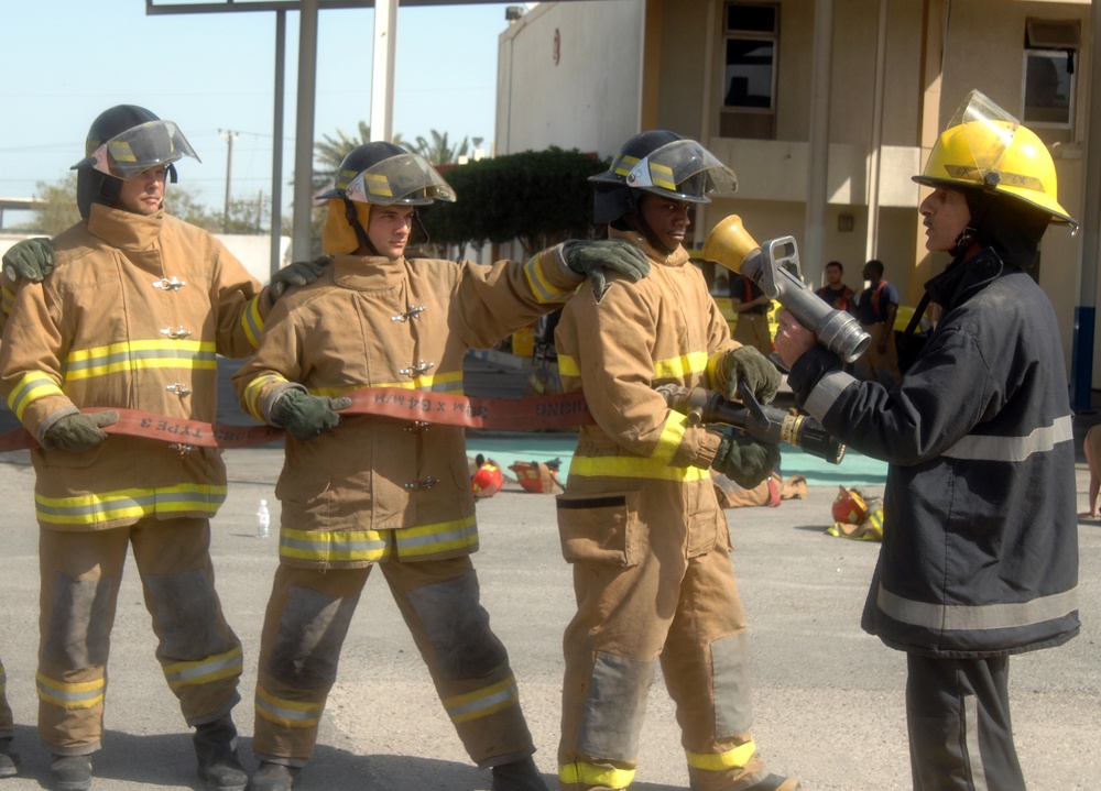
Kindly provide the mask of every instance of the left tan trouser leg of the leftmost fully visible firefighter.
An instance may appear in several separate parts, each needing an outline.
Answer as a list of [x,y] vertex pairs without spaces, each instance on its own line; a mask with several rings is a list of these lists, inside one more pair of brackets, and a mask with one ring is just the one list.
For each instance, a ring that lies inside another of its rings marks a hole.
[[39,735],[51,752],[85,755],[102,735],[106,664],[129,528],[42,529]]

